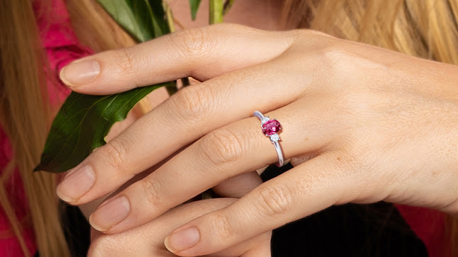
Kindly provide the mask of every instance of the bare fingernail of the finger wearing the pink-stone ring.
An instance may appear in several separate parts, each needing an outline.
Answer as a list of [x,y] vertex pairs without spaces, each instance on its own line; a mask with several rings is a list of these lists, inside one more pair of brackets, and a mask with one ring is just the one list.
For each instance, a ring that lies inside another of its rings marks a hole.
[[122,222],[129,214],[129,211],[129,200],[124,195],[121,195],[118,198],[108,201],[106,204],[102,204],[89,217],[89,222],[94,229],[104,232],[119,222]]

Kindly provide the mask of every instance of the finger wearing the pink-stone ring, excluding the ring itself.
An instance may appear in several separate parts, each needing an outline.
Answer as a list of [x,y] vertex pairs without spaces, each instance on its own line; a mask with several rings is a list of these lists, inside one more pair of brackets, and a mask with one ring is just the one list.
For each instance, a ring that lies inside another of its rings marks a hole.
[[[321,149],[331,139],[323,136],[329,135],[326,130],[314,129],[320,121],[315,120],[314,124],[308,111],[296,112],[302,104],[291,103],[268,113],[269,117],[279,118],[283,124],[280,144],[286,159]],[[299,120],[311,122],[304,127]],[[298,143],[306,138],[307,144]],[[116,200],[101,205],[91,215],[90,222],[94,228],[106,233],[122,232],[154,219],[228,178],[277,161],[277,152],[262,134],[259,119],[233,122],[202,137],[154,173],[113,197]],[[113,213],[117,214],[116,217]]]

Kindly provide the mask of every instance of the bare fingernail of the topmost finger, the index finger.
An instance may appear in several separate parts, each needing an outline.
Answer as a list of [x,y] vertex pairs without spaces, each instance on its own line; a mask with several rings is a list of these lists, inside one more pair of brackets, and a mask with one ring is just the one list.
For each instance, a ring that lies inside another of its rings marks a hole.
[[60,71],[60,79],[68,86],[81,86],[93,81],[99,73],[99,62],[88,59],[68,64]]

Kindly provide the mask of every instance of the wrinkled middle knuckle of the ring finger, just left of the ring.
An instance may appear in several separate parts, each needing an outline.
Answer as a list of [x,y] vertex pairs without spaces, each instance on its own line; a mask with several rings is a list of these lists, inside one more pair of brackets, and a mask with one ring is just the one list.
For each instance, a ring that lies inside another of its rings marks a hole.
[[242,156],[245,140],[227,129],[214,130],[204,137],[201,151],[215,166],[230,164]]

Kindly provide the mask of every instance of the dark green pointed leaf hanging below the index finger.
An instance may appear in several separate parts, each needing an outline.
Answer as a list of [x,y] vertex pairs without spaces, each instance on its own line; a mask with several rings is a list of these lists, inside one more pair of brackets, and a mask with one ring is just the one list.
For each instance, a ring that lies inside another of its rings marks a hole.
[[106,144],[111,126],[148,93],[167,84],[146,86],[110,96],[72,92],[52,122],[50,134],[35,171],[59,173],[77,166],[97,147]]

